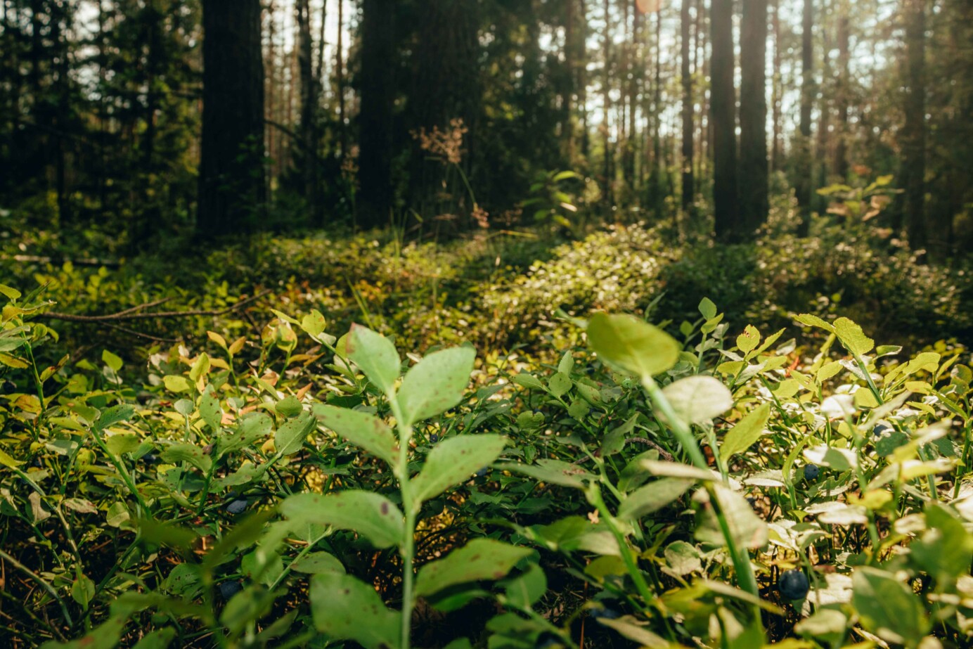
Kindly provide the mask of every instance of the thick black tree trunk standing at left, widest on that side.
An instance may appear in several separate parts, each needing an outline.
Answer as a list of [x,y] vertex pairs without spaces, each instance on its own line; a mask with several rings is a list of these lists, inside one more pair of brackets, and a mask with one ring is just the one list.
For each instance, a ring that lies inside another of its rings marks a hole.
[[197,231],[249,230],[264,210],[260,0],[203,0],[202,153]]

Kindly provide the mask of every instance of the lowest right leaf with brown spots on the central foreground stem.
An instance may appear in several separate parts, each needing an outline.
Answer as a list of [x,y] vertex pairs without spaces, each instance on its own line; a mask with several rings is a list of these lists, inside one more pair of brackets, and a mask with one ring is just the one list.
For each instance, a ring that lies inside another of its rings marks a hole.
[[445,559],[426,563],[415,579],[415,595],[433,595],[457,584],[501,579],[514,565],[531,554],[527,548],[516,548],[500,541],[474,539]]

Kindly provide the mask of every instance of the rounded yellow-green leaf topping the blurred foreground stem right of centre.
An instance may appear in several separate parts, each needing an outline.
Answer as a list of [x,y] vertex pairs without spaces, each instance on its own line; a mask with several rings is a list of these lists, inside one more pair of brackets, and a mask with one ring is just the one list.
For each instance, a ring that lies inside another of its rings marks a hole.
[[595,313],[588,343],[602,360],[640,378],[661,374],[679,360],[679,343],[631,315]]

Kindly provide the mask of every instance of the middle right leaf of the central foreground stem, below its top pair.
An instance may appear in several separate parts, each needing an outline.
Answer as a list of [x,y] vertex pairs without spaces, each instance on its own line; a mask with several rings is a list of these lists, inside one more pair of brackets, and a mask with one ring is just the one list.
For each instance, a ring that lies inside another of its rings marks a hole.
[[469,480],[499,457],[506,444],[502,435],[460,435],[437,444],[412,480],[415,506]]

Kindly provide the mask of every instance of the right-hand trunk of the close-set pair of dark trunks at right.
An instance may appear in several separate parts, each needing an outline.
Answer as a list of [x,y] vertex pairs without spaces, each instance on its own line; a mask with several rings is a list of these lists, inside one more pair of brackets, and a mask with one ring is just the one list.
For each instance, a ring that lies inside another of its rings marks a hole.
[[767,0],[744,0],[739,36],[740,211],[745,234],[767,223]]

